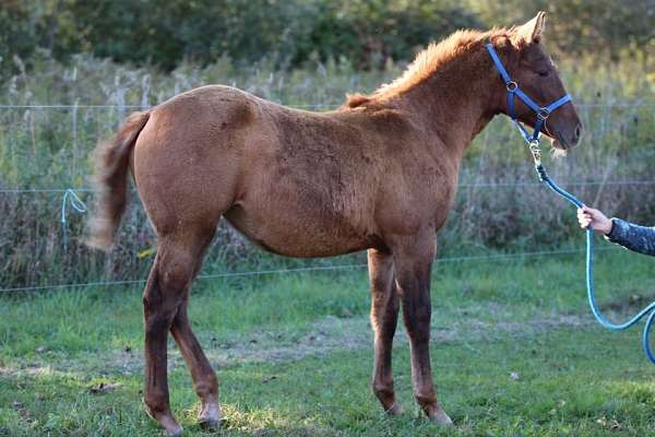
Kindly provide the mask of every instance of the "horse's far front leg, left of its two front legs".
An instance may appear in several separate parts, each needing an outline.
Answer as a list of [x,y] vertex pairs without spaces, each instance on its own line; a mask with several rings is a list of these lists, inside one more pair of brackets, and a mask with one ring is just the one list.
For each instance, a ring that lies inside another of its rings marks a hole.
[[394,283],[391,255],[376,249],[368,251],[371,286],[371,326],[374,334],[374,363],[372,389],[388,414],[401,414],[395,401],[391,354],[393,335],[398,320],[398,295]]

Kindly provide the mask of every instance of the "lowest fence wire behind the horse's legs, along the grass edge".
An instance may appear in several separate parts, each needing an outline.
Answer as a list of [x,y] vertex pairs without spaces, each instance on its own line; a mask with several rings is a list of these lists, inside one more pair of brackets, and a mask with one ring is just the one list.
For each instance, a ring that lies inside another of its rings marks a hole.
[[[596,251],[616,251],[618,247],[597,248]],[[493,253],[493,255],[480,255],[480,256],[466,256],[466,257],[450,257],[434,260],[436,264],[451,263],[451,262],[489,262],[489,261],[505,261],[515,260],[521,258],[538,258],[547,256],[565,256],[583,253],[583,249],[562,249],[562,250],[539,250],[539,251],[524,251],[514,253]],[[305,272],[318,272],[318,271],[331,271],[331,270],[349,270],[349,269],[364,269],[368,267],[367,263],[356,264],[337,264],[337,265],[310,265],[300,267],[293,269],[273,269],[273,270],[253,270],[245,272],[227,272],[227,273],[215,273],[215,274],[201,274],[196,279],[199,280],[212,280],[221,277],[243,277],[243,276],[263,276],[274,274],[289,274],[289,273],[305,273]],[[72,283],[72,284],[47,284],[47,285],[34,285],[23,287],[9,287],[0,288],[0,293],[10,292],[39,292],[50,290],[74,290],[74,288],[87,288],[97,286],[117,286],[117,285],[139,285],[144,284],[145,280],[117,280],[117,281],[97,281],[97,282],[85,282],[85,283]]]

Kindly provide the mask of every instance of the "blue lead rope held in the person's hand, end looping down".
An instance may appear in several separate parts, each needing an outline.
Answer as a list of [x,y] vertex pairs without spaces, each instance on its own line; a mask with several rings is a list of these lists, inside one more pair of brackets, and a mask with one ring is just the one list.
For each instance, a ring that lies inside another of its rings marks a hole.
[[[557,184],[555,184],[552,179],[550,179],[550,176],[548,176],[548,174],[546,173],[546,168],[544,168],[544,165],[537,162],[535,163],[535,169],[539,175],[539,179],[544,181],[546,186],[552,191],[567,199],[569,202],[573,203],[576,208],[582,208],[584,205],[584,203],[582,203],[577,198],[575,198],[575,196],[561,189]],[[651,351],[651,327],[653,324],[653,319],[655,318],[655,311],[653,311],[653,309],[655,309],[655,302],[651,303],[651,305],[639,311],[634,317],[632,317],[623,323],[612,323],[598,310],[594,293],[594,232],[591,227],[587,227],[586,229],[586,287],[587,298],[590,302],[590,307],[592,307],[592,312],[594,314],[594,317],[596,318],[598,323],[600,323],[607,329],[610,329],[612,331],[623,331],[632,327],[650,314],[648,318],[646,319],[646,324],[644,326],[642,344],[644,346],[644,352],[646,353],[646,356],[653,364],[655,364],[655,356],[653,356],[653,352]]]

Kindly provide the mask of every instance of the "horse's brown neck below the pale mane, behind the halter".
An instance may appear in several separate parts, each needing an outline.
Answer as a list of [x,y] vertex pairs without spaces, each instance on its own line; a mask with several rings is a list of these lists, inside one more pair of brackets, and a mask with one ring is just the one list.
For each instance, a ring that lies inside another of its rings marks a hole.
[[489,74],[471,66],[452,61],[401,97],[457,160],[499,111],[498,90]]

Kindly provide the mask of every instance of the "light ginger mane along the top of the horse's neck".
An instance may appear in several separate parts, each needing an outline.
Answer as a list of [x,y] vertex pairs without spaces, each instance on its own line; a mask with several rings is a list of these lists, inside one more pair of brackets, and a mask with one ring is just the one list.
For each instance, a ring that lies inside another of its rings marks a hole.
[[511,28],[493,28],[489,32],[457,31],[440,43],[430,43],[428,48],[421,50],[407,66],[400,78],[383,84],[370,95],[348,94],[344,106],[354,108],[403,94],[428,80],[444,64],[480,46],[487,38],[509,36],[511,31]]

